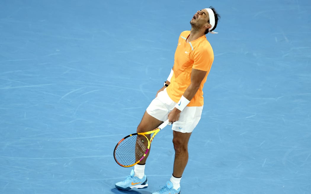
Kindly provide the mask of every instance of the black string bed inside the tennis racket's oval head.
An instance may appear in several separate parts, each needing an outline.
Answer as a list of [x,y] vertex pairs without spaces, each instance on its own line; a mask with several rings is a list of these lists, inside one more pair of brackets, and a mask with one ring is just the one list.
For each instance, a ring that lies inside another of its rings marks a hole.
[[130,166],[139,161],[148,148],[148,139],[135,134],[125,138],[115,149],[114,157],[123,166]]

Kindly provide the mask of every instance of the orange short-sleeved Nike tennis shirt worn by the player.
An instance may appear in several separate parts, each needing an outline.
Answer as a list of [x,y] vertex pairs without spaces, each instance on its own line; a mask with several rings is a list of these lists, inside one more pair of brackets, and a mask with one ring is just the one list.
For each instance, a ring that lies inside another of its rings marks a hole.
[[202,89],[214,61],[214,52],[205,35],[187,43],[189,34],[190,31],[183,31],[179,36],[174,56],[174,74],[166,91],[177,103],[191,83],[192,69],[207,71],[200,88],[188,104],[188,106],[203,106]]

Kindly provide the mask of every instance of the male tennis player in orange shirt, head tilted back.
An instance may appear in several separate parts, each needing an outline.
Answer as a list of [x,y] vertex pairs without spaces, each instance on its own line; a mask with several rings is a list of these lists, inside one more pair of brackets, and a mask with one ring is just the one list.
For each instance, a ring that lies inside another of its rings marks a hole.
[[[153,194],[180,193],[180,180],[188,162],[188,141],[201,118],[202,89],[214,60],[212,47],[205,34],[215,34],[213,30],[219,17],[213,7],[197,11],[193,16],[191,30],[179,36],[174,66],[167,81],[157,92],[137,127],[137,133],[142,133],[157,128],[167,119],[169,125],[172,124],[175,150],[173,174],[166,186]],[[149,152],[134,166],[131,174],[124,181],[116,183],[115,187],[122,190],[148,187],[144,169]]]

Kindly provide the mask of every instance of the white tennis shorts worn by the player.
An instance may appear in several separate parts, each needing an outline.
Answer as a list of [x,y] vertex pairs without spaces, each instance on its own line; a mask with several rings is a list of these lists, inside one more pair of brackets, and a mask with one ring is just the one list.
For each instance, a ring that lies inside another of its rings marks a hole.
[[[151,101],[146,111],[152,117],[166,121],[167,115],[174,109],[175,105],[176,102],[169,97],[165,88]],[[203,106],[186,106],[180,113],[179,120],[172,124],[172,129],[182,133],[191,133],[201,119],[202,110]]]

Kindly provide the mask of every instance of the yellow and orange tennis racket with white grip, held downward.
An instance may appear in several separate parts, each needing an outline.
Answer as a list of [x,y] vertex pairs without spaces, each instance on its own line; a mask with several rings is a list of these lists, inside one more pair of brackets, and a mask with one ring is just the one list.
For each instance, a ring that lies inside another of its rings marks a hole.
[[[163,129],[169,120],[164,121],[158,128],[144,133],[133,133],[121,139],[114,148],[114,160],[118,165],[131,167],[138,164],[148,153],[153,138]],[[146,134],[153,133],[150,140]]]

